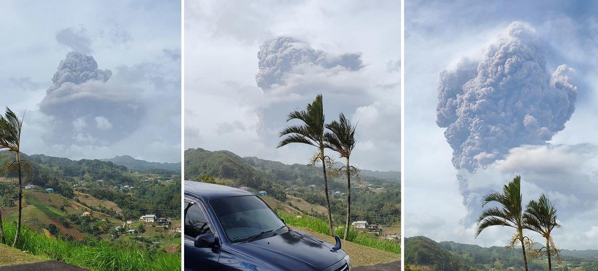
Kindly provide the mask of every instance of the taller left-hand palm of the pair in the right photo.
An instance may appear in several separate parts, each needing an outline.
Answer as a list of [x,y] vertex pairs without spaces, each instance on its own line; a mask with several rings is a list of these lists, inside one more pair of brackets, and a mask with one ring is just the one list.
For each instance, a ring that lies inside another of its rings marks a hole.
[[477,220],[475,237],[490,226],[507,226],[517,230],[514,235],[514,242],[521,242],[521,252],[523,252],[523,263],[527,271],[527,257],[525,253],[525,238],[523,236],[523,218],[521,211],[521,176],[517,175],[511,182],[504,185],[502,192],[490,190],[490,193],[484,196],[482,207],[490,202],[499,203],[500,207],[491,207],[484,209]]

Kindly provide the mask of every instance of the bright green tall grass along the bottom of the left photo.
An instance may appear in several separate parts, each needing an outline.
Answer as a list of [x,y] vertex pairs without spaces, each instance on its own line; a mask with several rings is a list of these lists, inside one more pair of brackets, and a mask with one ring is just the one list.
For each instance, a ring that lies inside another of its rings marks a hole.
[[[16,225],[6,223],[4,226],[7,240],[12,240]],[[147,251],[135,245],[117,247],[102,240],[85,244],[69,242],[46,237],[29,227],[21,228],[17,248],[93,271],[181,270],[180,255]]]

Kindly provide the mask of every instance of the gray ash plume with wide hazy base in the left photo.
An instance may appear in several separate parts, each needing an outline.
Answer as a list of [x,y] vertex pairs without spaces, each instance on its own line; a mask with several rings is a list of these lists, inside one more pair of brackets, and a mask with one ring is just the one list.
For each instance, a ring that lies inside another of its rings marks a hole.
[[70,52],[57,69],[39,103],[40,111],[56,121],[47,141],[106,145],[138,127],[145,109],[130,89],[107,83],[112,72],[97,69],[92,56]]

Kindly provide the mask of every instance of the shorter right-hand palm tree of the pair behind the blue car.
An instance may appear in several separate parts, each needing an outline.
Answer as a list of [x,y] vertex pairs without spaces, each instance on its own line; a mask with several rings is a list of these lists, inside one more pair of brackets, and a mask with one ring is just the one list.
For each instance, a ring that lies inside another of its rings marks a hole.
[[344,227],[343,239],[347,240],[349,234],[349,220],[351,215],[351,175],[355,175],[358,169],[351,166],[349,157],[351,151],[355,148],[355,126],[351,126],[351,121],[344,117],[343,113],[338,115],[338,121],[332,121],[326,124],[326,128],[331,132],[324,133],[325,146],[340,154],[340,157],[346,159],[346,163],[339,170],[347,174],[347,221]]

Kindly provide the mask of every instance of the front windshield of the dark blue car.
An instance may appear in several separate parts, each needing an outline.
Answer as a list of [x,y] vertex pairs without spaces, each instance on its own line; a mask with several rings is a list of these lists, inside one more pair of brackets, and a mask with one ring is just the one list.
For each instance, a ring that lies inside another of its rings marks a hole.
[[213,199],[210,205],[231,243],[248,240],[260,233],[276,232],[285,226],[257,196]]

